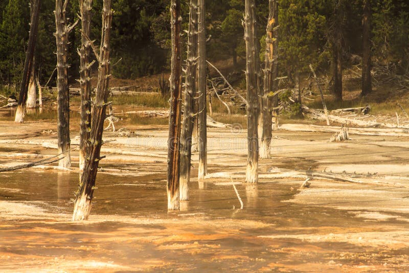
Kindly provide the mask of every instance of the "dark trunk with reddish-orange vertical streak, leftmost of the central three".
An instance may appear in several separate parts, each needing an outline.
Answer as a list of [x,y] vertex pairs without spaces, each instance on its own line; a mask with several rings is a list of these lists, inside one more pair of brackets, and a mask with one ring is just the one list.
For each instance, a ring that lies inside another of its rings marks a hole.
[[171,0],[172,57],[170,75],[170,109],[168,138],[168,210],[179,210],[180,119],[181,119],[181,44],[180,0]]

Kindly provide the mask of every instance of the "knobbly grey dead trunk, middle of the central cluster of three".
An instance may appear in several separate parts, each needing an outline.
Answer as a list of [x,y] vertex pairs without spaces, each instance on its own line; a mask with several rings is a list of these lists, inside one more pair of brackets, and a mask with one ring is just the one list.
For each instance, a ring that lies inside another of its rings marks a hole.
[[186,91],[184,97],[183,128],[180,138],[180,200],[189,199],[190,161],[192,157],[192,133],[195,121],[196,65],[197,65],[197,6],[190,1],[188,59],[186,60]]

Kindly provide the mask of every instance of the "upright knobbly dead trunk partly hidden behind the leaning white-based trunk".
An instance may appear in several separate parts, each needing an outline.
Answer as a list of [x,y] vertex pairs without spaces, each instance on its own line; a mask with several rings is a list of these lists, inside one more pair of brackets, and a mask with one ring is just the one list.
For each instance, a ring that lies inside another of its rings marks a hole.
[[79,0],[81,12],[81,50],[80,54],[80,85],[81,85],[81,124],[80,124],[80,173],[84,169],[86,144],[89,139],[91,125],[91,66],[90,50],[90,20],[93,0]]

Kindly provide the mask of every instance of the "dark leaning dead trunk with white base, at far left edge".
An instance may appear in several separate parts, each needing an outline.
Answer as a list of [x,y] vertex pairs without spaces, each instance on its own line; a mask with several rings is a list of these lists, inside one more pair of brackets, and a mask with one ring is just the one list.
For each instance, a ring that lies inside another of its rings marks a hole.
[[22,123],[26,113],[27,93],[30,82],[31,71],[33,70],[34,50],[37,40],[38,19],[40,14],[40,0],[33,0],[31,3],[32,16],[30,25],[29,43],[27,46],[26,61],[24,63],[24,71],[20,85],[20,96],[18,97],[18,105],[14,122]]

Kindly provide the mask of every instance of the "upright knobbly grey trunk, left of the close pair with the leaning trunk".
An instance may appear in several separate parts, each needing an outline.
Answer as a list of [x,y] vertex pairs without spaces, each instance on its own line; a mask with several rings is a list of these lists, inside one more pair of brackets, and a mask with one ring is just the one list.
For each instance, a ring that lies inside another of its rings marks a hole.
[[55,1],[55,25],[57,42],[57,119],[58,119],[58,152],[66,152],[63,160],[59,162],[60,167],[71,167],[70,155],[70,91],[68,86],[68,33],[69,27],[65,18],[67,0]]

